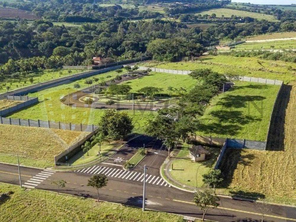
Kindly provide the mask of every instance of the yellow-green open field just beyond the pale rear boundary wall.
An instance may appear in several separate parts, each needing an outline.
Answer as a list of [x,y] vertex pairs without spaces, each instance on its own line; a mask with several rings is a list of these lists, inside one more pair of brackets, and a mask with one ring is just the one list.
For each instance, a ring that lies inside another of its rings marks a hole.
[[199,60],[193,62],[149,62],[141,65],[177,70],[207,68],[222,74],[231,73],[250,77],[282,80],[286,84],[296,80],[295,63],[265,60],[260,59],[259,57],[236,57],[224,55],[202,56]]

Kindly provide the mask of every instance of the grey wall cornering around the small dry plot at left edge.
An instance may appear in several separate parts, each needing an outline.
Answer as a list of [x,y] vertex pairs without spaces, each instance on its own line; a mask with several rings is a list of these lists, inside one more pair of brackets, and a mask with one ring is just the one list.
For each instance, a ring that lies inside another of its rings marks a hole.
[[10,113],[21,110],[27,106],[31,106],[33,104],[38,103],[38,98],[32,98],[32,97],[28,97],[28,96],[7,95],[6,99],[13,100],[13,101],[24,101],[24,102],[19,103],[15,106],[0,110],[0,116],[6,116]]

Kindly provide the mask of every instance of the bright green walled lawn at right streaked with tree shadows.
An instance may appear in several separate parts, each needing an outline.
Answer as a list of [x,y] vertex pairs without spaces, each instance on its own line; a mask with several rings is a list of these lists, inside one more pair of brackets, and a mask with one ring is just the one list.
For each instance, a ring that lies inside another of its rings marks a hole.
[[215,96],[200,117],[201,136],[266,141],[272,108],[280,86],[235,81]]

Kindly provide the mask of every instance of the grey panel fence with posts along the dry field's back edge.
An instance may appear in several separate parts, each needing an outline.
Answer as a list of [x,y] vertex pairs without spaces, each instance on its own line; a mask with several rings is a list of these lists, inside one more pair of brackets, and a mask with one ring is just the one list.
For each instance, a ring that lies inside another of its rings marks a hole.
[[85,125],[85,124],[74,124],[74,123],[62,123],[54,121],[43,121],[43,120],[32,120],[32,119],[12,119],[5,118],[0,116],[0,123],[7,125],[16,125],[24,127],[41,127],[49,129],[63,129],[71,131],[80,131],[80,132],[94,132],[99,126],[94,124]]

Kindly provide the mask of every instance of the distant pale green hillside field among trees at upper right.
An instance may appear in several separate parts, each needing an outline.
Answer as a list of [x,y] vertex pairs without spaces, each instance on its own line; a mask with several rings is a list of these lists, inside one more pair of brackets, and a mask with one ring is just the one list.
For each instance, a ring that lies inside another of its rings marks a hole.
[[267,14],[256,13],[256,12],[246,12],[246,11],[240,11],[240,10],[234,10],[234,9],[224,9],[224,8],[210,9],[210,10],[198,12],[195,14],[211,15],[213,13],[215,13],[217,17],[221,17],[222,15],[224,15],[224,17],[226,17],[226,18],[230,18],[231,15],[236,15],[236,16],[241,16],[241,17],[252,17],[252,18],[255,18],[258,20],[265,19],[265,20],[273,21],[273,22],[278,21],[273,15],[267,15]]

